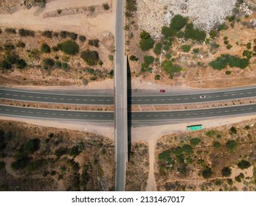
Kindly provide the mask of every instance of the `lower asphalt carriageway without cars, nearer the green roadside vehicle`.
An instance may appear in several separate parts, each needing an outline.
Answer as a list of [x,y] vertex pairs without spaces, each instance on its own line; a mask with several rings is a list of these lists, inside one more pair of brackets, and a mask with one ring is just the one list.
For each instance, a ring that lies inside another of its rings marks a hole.
[[[176,110],[155,112],[134,112],[131,114],[132,127],[170,124],[188,119],[218,118],[224,116],[256,115],[256,104],[246,104],[232,107],[218,107],[204,110]],[[113,112],[86,112],[77,110],[46,110],[30,107],[13,107],[0,105],[1,116],[63,119],[91,122],[114,123]]]

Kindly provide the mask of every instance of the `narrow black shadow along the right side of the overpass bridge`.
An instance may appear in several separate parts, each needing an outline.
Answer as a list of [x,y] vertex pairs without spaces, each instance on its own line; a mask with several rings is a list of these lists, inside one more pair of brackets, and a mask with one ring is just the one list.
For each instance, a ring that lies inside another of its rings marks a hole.
[[131,69],[127,56],[127,110],[128,110],[128,161],[131,153]]

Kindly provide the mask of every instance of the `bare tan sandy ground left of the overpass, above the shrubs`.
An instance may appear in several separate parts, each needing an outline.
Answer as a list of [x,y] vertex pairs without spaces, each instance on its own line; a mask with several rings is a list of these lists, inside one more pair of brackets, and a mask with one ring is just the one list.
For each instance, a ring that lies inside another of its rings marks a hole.
[[[97,0],[97,4],[99,5],[105,2],[108,1]],[[31,8],[30,10],[18,10],[12,15],[1,14],[0,25],[32,30],[68,30],[70,32],[77,32],[78,34],[82,33],[90,36],[100,35],[104,31],[114,33],[115,3],[116,1],[113,0],[113,9],[111,13],[100,14],[96,18],[85,18],[83,15],[63,15],[58,18],[43,18],[45,13],[49,13],[54,10],[69,7],[89,7],[91,5],[95,5],[95,1],[93,0],[55,0],[47,3],[44,10]]]

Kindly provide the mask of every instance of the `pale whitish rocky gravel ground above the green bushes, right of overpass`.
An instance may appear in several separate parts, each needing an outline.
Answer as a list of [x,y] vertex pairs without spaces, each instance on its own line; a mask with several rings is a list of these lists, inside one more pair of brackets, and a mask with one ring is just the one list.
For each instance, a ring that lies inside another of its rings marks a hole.
[[190,18],[200,29],[210,31],[216,24],[222,24],[232,13],[236,0],[144,0],[137,1],[140,29],[159,38],[162,26],[170,24],[173,15]]

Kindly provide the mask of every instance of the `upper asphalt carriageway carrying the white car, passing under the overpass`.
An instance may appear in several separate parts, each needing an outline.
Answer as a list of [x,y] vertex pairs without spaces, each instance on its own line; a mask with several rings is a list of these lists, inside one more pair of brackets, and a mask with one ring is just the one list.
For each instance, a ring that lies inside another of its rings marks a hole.
[[[11,88],[0,88],[0,99],[13,99],[31,102],[49,102],[59,104],[96,104],[96,105],[113,105],[114,96],[108,91],[103,95],[94,91],[95,94],[71,94],[74,91],[66,93],[49,93],[46,91],[36,90],[15,90]],[[186,104],[195,102],[211,102],[228,99],[242,99],[256,96],[256,88],[235,88],[221,91],[212,91],[204,93],[175,94],[154,93],[145,95],[131,96],[132,104]],[[205,96],[201,99],[200,96]]]

